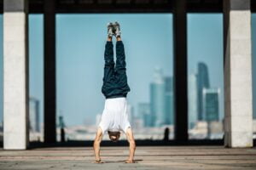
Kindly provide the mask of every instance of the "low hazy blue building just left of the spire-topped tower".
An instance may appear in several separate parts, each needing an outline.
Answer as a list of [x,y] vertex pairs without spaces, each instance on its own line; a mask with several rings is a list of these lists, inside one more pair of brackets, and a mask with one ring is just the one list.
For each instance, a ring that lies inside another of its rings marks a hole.
[[143,127],[152,127],[152,116],[150,112],[150,104],[139,103],[137,105],[138,116],[143,117]]

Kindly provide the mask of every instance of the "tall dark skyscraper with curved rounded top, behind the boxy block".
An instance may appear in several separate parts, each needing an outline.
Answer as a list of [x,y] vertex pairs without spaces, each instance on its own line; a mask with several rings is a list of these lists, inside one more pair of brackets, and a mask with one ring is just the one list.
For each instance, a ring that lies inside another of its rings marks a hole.
[[208,67],[205,63],[197,65],[197,97],[198,97],[198,120],[203,120],[202,89],[210,88]]

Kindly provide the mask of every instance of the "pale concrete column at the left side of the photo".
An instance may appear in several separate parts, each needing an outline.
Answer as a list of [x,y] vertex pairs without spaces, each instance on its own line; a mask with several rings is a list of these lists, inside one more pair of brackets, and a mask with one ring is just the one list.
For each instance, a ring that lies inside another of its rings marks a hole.
[[28,132],[26,0],[3,2],[3,149],[25,150]]

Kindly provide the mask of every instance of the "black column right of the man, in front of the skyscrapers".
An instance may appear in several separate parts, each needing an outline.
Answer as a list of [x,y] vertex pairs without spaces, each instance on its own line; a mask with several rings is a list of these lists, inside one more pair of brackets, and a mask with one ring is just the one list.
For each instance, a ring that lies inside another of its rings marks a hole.
[[177,143],[183,143],[188,140],[186,0],[173,3],[175,140]]

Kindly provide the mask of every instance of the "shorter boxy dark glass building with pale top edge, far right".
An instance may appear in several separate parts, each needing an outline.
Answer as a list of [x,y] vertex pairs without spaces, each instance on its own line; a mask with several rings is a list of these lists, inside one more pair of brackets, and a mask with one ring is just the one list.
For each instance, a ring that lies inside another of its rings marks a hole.
[[207,122],[218,121],[219,94],[219,88],[203,88],[203,119]]

